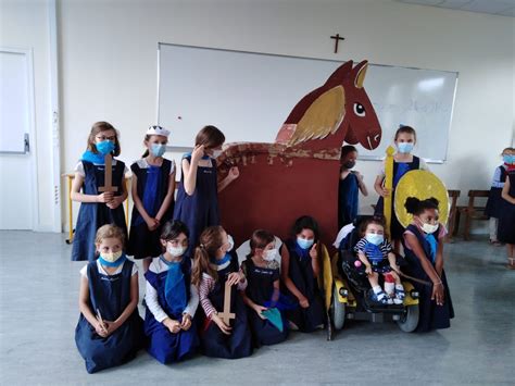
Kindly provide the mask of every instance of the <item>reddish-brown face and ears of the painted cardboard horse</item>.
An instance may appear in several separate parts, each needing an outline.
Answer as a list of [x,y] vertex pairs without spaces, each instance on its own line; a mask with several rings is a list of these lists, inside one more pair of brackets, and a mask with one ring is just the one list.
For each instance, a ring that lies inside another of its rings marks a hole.
[[367,67],[367,61],[356,64],[342,83],[346,90],[346,115],[339,129],[346,133],[346,142],[360,142],[365,149],[372,150],[379,146],[381,126],[363,87]]

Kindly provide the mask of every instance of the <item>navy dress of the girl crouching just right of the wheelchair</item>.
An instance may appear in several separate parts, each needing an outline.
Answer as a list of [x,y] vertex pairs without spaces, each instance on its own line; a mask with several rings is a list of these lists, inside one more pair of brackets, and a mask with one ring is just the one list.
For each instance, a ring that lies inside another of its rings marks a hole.
[[[442,225],[440,225],[442,226]],[[435,266],[435,259],[436,256],[431,251],[431,246],[429,241],[426,239],[425,234],[423,234],[416,225],[409,225],[406,231],[412,232],[418,242],[420,244],[422,248],[424,249],[424,253],[428,259],[431,260],[431,264]],[[440,227],[435,232],[434,235],[438,235],[440,232]],[[436,242],[437,242],[437,250],[438,250],[438,237],[435,237]],[[426,282],[431,282],[429,276],[426,274],[426,271],[424,271],[424,267],[422,266],[420,260],[416,257],[416,254],[411,250],[404,238],[403,238],[403,247],[404,247],[404,253],[405,253],[405,259],[407,260],[407,265],[406,267],[403,267],[403,270],[406,272],[407,275],[426,281]],[[422,283],[413,283],[413,286],[416,288],[416,290],[419,294],[419,303],[418,303],[418,309],[419,309],[419,320],[418,320],[418,326],[416,328],[417,332],[424,333],[424,332],[429,332],[432,329],[439,329],[439,328],[449,328],[451,326],[451,319],[454,317],[454,309],[452,307],[452,299],[451,299],[451,292],[449,290],[449,285],[447,282],[445,277],[445,272],[442,270],[442,275],[441,275],[441,281],[444,287],[444,301],[443,306],[438,306],[435,300],[431,300],[431,294],[432,294],[432,286],[428,286]]]

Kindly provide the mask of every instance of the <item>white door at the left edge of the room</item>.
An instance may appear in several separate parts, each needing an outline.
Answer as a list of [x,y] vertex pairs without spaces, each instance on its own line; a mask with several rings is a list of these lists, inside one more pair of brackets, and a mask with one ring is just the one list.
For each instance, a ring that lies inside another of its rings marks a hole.
[[33,229],[34,79],[29,50],[0,48],[0,229]]

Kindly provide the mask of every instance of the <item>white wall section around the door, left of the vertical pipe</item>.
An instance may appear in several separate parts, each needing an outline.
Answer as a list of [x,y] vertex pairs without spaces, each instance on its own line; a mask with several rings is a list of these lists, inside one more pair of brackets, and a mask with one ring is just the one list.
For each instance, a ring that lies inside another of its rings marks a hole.
[[54,197],[52,175],[49,7],[47,0],[0,1],[0,46],[33,50],[36,138],[32,144],[36,144],[38,183],[35,231],[46,232],[59,225],[54,208],[61,204],[59,195],[56,200]]

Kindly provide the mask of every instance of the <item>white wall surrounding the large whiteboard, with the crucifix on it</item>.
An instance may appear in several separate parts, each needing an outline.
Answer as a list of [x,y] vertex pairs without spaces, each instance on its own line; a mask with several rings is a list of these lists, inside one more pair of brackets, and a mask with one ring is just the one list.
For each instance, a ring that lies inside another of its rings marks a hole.
[[[460,72],[448,161],[431,167],[462,196],[489,188],[513,141],[515,18],[387,0],[62,0],[59,21],[62,172],[99,120],[120,128],[123,160],[139,157],[156,116],[159,41]],[[359,165],[370,190],[378,167]]]

